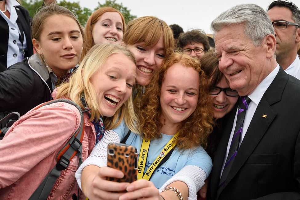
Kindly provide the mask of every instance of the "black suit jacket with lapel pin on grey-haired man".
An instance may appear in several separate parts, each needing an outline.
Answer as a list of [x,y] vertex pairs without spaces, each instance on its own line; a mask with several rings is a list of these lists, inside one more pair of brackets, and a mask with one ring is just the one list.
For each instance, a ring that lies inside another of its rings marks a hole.
[[280,67],[258,104],[225,187],[218,191],[234,116],[232,112],[214,157],[211,198],[300,199],[300,80]]

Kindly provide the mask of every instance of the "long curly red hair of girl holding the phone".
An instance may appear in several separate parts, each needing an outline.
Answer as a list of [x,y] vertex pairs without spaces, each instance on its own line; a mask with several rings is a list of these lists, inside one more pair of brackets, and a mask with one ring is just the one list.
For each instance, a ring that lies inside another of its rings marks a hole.
[[163,126],[159,96],[167,70],[176,63],[192,67],[199,73],[200,78],[196,110],[186,120],[182,121],[182,125],[178,129],[179,138],[176,146],[181,150],[200,145],[206,147],[206,140],[213,129],[212,124],[214,123],[212,102],[209,95],[209,81],[198,60],[179,52],[168,53],[162,67],[155,70],[150,84],[146,87],[146,92],[138,101],[137,111],[142,137],[151,140],[162,136],[159,132]]

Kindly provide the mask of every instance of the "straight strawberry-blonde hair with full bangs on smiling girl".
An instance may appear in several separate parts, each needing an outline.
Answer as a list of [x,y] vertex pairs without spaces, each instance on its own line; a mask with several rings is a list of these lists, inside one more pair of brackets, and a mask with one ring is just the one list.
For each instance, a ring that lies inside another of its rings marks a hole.
[[123,41],[127,45],[144,42],[145,46],[155,46],[160,37],[163,38],[164,53],[174,49],[174,36],[166,22],[157,17],[145,16],[130,21],[123,35]]

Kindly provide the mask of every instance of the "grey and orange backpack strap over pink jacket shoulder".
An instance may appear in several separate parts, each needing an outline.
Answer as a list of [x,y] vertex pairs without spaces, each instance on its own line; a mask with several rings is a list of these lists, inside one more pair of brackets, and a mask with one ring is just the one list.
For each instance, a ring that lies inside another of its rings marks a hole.
[[[74,105],[80,112],[81,116],[81,122],[80,126],[77,129],[77,131],[74,133],[73,137],[71,137],[68,142],[66,143],[65,147],[63,147],[57,155],[57,163],[56,166],[53,167],[53,169],[49,172],[49,174],[46,176],[46,178],[43,180],[43,182],[38,186],[38,188],[34,191],[34,193],[31,195],[29,200],[35,200],[35,199],[47,199],[56,180],[61,174],[61,171],[66,169],[69,166],[70,160],[74,157],[74,155],[77,155],[79,157],[79,165],[82,163],[82,138],[84,134],[84,123],[83,123],[83,112],[81,108],[75,104],[71,100],[67,99],[56,99],[52,101],[48,101],[44,105],[49,105],[56,102],[66,102],[69,104]],[[41,107],[40,106],[40,107]],[[38,108],[40,108],[38,107]]]

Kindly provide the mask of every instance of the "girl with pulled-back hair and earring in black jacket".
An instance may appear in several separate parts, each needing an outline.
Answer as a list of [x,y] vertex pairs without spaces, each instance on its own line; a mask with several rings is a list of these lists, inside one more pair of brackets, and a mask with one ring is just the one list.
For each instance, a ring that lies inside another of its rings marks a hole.
[[82,26],[70,10],[56,4],[42,8],[33,18],[31,29],[37,54],[0,73],[0,113],[24,115],[51,100],[54,88],[78,64],[83,35]]

